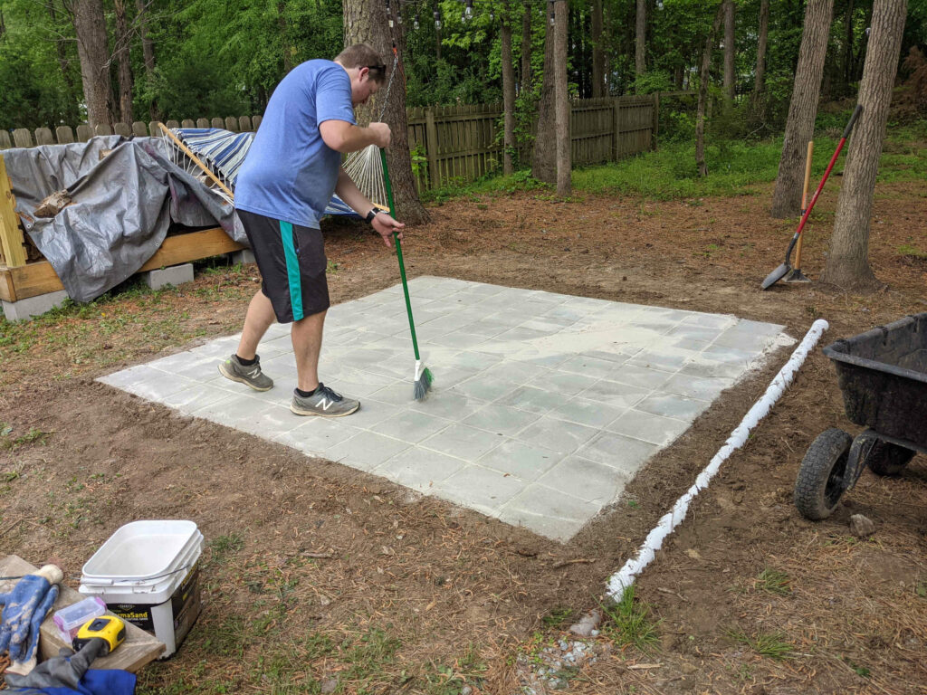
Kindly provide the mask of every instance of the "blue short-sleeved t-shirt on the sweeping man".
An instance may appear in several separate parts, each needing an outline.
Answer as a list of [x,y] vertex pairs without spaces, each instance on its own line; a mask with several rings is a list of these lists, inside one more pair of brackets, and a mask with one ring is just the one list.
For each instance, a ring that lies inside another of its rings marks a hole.
[[319,133],[325,120],[356,124],[350,78],[331,60],[310,60],[273,90],[238,172],[235,208],[318,229],[341,166]]

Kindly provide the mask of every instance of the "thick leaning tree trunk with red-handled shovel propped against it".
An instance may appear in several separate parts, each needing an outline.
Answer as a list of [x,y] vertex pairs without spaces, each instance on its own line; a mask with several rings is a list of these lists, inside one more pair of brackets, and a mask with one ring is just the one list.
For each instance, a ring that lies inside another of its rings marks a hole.
[[847,147],[831,250],[820,276],[821,282],[844,289],[879,287],[869,264],[870,217],[907,6],[908,0],[875,0],[872,10],[869,49],[859,83],[863,112]]

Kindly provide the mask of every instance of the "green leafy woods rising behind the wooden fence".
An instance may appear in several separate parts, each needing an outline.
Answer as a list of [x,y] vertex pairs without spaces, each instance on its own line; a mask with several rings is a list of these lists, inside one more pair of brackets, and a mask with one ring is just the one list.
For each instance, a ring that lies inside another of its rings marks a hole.
[[[570,95],[697,90],[717,2],[571,0],[569,5]],[[730,5],[733,33],[729,27],[719,36],[712,89],[733,95],[736,106],[716,114],[716,131],[733,137],[781,132],[805,3],[736,0]],[[289,69],[337,54],[344,41],[343,10],[339,0],[0,0],[0,128],[54,128],[87,120],[76,38],[82,19],[94,23],[101,39],[105,31],[98,55],[108,58],[102,69],[110,73],[110,121],[132,122],[261,113]],[[405,36],[408,107],[502,101],[502,18],[507,18],[518,95],[516,134],[522,142],[529,139],[552,4],[393,0],[390,11]],[[871,0],[834,1],[822,100],[855,95],[871,13]],[[732,45],[725,40],[730,35]],[[901,57],[912,47],[923,51],[925,42],[927,0],[911,0]],[[764,43],[761,55],[757,44]],[[731,59],[732,70],[726,67]],[[901,78],[914,69],[902,67]],[[668,109],[662,120],[664,137],[692,137],[692,109]]]

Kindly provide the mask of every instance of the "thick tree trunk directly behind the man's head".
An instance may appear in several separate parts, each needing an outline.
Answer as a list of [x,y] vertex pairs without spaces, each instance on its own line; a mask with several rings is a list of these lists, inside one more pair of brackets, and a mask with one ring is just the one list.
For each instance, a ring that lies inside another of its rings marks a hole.
[[[389,28],[387,8],[383,0],[345,0],[343,9],[345,45],[370,44],[383,57],[383,62],[389,70],[392,70],[393,65],[394,42],[399,51],[400,60],[396,65],[395,74],[387,74],[387,80],[393,81],[383,117],[392,132],[392,143],[387,149],[387,168],[396,203],[396,219],[409,224],[424,224],[431,218],[415,190],[412,156],[409,151],[409,127],[406,123],[405,68],[401,59],[405,48],[405,36],[402,32],[404,25],[394,22],[393,28]],[[386,96],[387,87],[384,85],[366,106],[357,108],[358,122],[369,123],[371,120],[379,119]]]

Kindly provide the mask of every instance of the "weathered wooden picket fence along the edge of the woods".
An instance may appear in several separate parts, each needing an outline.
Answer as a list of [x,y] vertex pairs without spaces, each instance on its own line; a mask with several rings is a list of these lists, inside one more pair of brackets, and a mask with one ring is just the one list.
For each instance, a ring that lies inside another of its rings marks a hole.
[[[573,164],[615,161],[654,146],[659,120],[659,95],[616,96],[571,102],[570,133]],[[418,107],[407,112],[409,146],[415,155],[420,191],[455,181],[471,181],[502,166],[502,104]],[[235,133],[255,131],[260,116],[226,119],[168,120],[169,128],[224,128]],[[116,123],[110,127],[59,126],[33,132],[19,128],[13,136],[0,130],[0,150],[86,142],[94,135],[159,137],[157,121]],[[550,134],[551,140],[553,138]],[[552,145],[553,146],[553,145]],[[527,155],[527,152],[523,152]]]

